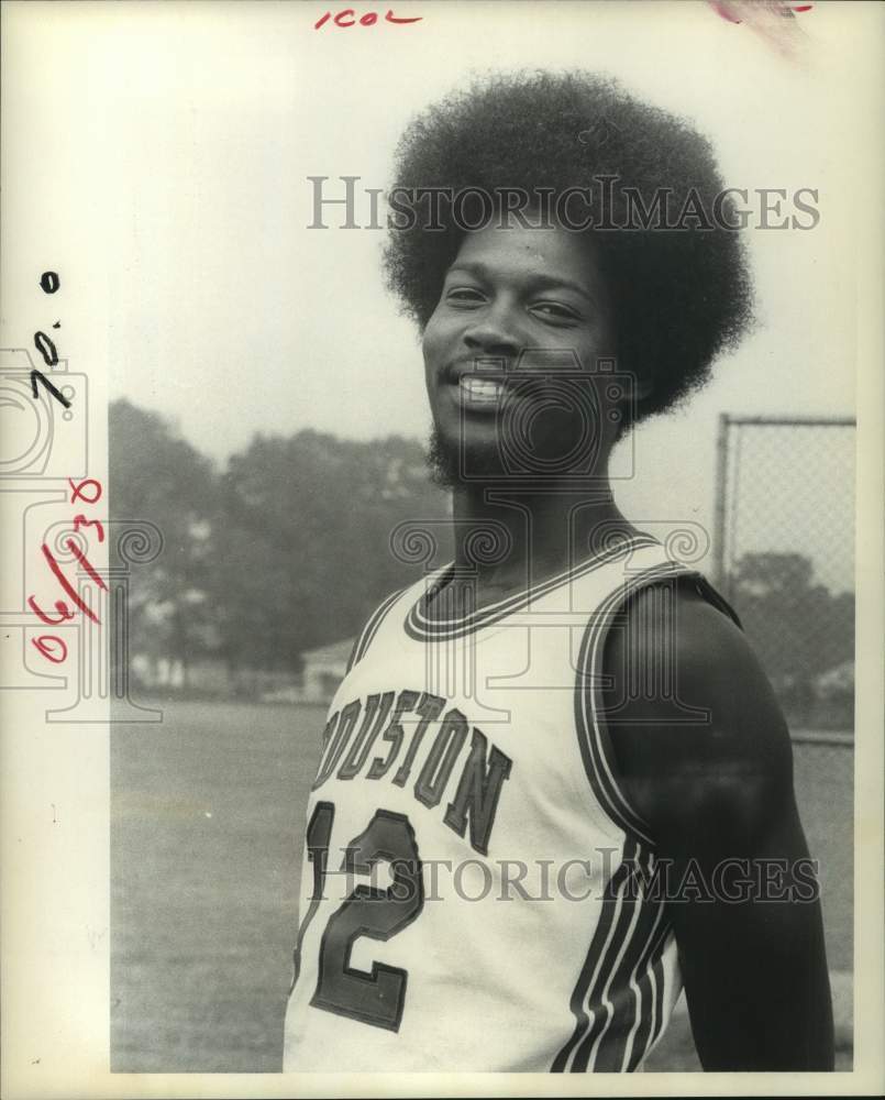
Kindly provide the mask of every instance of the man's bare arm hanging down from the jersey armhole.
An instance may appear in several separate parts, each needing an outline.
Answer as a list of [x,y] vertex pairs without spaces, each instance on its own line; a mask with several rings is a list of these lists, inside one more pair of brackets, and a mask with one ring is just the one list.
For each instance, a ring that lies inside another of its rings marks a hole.
[[[646,598],[637,597],[624,630],[609,634],[605,670],[616,686],[606,694],[618,697],[628,660],[660,659],[667,645],[678,698],[710,718],[684,725],[672,703],[627,698],[607,725],[624,793],[659,858],[672,861],[671,883],[686,884],[668,914],[701,1064],[832,1069],[820,904],[783,715],[730,619],[689,590],[679,594],[675,631],[653,622],[650,629],[648,614],[637,614]],[[631,630],[640,618],[643,630]]]

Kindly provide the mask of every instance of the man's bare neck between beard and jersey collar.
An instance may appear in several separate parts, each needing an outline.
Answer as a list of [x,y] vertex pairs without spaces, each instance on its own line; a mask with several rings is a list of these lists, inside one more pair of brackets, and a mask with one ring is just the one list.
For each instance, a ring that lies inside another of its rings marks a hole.
[[608,477],[598,476],[591,487],[460,485],[453,520],[455,564],[496,586],[531,586],[597,552],[616,532],[635,534]]

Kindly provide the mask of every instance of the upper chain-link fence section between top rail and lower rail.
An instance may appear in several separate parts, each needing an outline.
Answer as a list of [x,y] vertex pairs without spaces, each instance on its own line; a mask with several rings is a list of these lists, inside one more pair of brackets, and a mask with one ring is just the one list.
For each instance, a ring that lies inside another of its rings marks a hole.
[[850,734],[854,421],[722,416],[716,582],[796,730]]

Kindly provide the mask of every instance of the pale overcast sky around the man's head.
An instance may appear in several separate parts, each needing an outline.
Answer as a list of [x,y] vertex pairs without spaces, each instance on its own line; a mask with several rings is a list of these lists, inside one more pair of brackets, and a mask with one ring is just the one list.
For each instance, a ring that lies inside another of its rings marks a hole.
[[[819,193],[814,230],[749,234],[760,327],[689,410],[637,432],[624,510],[710,525],[720,411],[853,413],[845,8],[797,15],[790,58],[703,0],[392,7],[422,21],[317,31],[323,4],[232,2],[71,20],[67,140],[91,148],[76,170],[107,205],[112,396],[219,461],[256,431],[423,439],[420,349],[381,287],[383,233],[309,230],[307,177],[385,187],[403,124],[471,73],[579,66],[696,120],[730,186]],[[851,486],[826,508],[850,527]]]

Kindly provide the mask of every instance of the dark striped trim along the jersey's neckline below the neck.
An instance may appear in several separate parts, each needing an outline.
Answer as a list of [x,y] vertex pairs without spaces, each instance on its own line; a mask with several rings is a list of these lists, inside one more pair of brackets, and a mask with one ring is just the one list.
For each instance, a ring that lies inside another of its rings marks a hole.
[[425,591],[409,608],[403,623],[406,634],[413,641],[463,638],[475,630],[494,625],[506,615],[512,615],[515,612],[522,610],[532,601],[546,596],[554,588],[573,579],[591,573],[594,570],[600,569],[609,562],[617,561],[619,558],[626,557],[634,550],[653,546],[660,547],[661,544],[657,539],[644,534],[640,534],[633,538],[621,539],[609,547],[608,550],[602,550],[590,558],[586,558],[579,564],[566,569],[562,573],[557,573],[555,576],[551,576],[539,584],[530,585],[528,588],[512,596],[499,600],[497,603],[488,604],[477,610],[468,612],[466,615],[450,619],[429,618],[425,614],[428,603],[449,582],[454,572],[455,563],[449,562],[447,565],[443,565],[440,569]]

